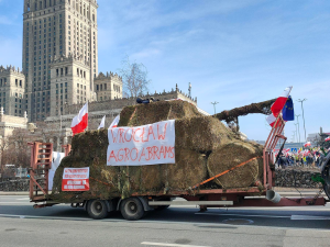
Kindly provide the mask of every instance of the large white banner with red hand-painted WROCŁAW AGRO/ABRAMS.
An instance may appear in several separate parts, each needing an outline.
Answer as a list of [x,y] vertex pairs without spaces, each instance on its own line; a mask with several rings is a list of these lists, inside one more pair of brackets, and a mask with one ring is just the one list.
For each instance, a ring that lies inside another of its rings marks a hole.
[[175,121],[108,130],[108,166],[175,164]]

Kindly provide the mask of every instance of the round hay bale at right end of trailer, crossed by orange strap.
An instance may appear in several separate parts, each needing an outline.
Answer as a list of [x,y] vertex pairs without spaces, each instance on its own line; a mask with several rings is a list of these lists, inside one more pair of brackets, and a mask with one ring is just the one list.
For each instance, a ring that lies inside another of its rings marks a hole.
[[[213,150],[208,158],[207,167],[209,176],[213,177],[258,155],[258,150],[249,143],[234,142],[224,144]],[[260,161],[252,160],[215,179],[215,182],[223,189],[245,188],[258,180],[258,177]]]

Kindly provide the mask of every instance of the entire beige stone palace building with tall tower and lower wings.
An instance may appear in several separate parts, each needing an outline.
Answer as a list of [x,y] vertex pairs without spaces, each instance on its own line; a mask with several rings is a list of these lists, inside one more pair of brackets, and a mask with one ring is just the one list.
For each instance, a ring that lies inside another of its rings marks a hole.
[[[103,115],[112,121],[135,103],[123,99],[119,75],[98,72],[98,7],[97,0],[24,0],[22,69],[0,65],[0,137],[42,121],[70,136],[70,121],[85,102],[89,124]],[[177,87],[153,97],[197,104]]]

